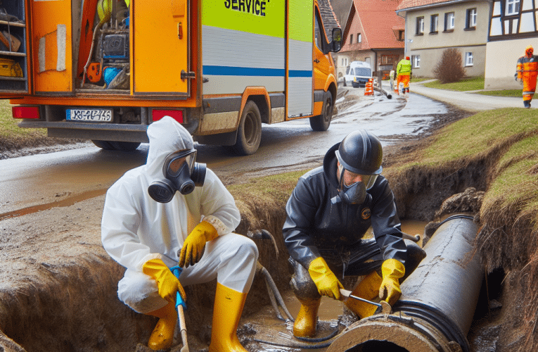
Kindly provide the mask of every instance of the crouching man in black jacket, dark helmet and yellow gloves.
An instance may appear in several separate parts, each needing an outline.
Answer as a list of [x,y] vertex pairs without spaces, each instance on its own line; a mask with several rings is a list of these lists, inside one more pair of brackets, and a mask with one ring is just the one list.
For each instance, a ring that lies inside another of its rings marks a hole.
[[[338,277],[364,276],[352,292],[394,304],[399,284],[425,252],[403,239],[392,190],[380,175],[383,148],[365,130],[348,134],[328,150],[323,166],[300,177],[286,204],[283,237],[295,273],[290,285],[301,303],[296,337],[314,337],[321,296],[342,299]],[[362,239],[372,227],[374,238]],[[337,277],[338,275],[338,277]],[[359,318],[376,306],[348,299]]]

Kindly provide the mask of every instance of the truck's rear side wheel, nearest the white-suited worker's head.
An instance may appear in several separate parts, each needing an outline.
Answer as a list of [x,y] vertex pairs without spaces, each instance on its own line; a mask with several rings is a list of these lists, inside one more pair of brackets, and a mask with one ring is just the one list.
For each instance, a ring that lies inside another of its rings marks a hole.
[[254,101],[247,101],[237,129],[237,141],[233,150],[239,155],[255,153],[262,140],[262,115]]

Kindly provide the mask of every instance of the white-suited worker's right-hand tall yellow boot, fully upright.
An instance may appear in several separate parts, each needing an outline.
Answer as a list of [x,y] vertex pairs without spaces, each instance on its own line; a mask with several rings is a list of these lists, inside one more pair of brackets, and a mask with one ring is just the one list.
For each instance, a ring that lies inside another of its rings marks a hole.
[[247,294],[229,289],[217,282],[210,352],[247,352],[237,338],[237,325],[246,298]]

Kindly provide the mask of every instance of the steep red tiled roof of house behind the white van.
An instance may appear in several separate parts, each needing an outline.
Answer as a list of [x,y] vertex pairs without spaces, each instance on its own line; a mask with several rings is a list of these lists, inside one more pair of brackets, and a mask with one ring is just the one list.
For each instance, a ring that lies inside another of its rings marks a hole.
[[[364,49],[403,48],[393,29],[404,30],[405,20],[396,14],[401,0],[353,0],[364,30]],[[354,11],[350,11],[350,15]],[[347,19],[348,22],[351,18]],[[346,26],[347,27],[347,26]],[[346,30],[348,30],[346,28]]]

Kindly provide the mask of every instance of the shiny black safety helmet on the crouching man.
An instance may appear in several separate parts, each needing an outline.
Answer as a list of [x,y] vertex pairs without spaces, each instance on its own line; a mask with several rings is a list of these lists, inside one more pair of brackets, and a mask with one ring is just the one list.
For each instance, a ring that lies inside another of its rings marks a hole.
[[340,164],[361,175],[379,175],[383,171],[383,147],[378,137],[366,130],[347,134],[335,151]]

